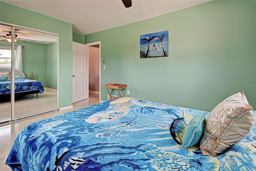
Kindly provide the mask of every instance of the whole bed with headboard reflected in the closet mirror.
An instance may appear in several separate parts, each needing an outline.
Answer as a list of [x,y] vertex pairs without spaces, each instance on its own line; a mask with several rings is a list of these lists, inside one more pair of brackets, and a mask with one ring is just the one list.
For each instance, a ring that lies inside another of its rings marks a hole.
[[[11,94],[11,81],[8,79],[10,74],[10,69],[8,68],[0,68],[0,75],[6,76],[7,80],[0,81],[0,96],[1,99],[8,98]],[[28,94],[43,93],[44,87],[41,82],[36,80],[29,80],[25,78],[25,74],[20,70],[14,70],[14,85],[15,90],[14,93],[16,96],[24,96]],[[0,77],[4,78],[4,77]]]

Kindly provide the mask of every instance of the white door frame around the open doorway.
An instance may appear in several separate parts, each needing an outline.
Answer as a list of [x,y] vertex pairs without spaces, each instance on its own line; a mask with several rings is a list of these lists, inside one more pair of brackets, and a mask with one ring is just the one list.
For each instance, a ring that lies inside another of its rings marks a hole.
[[101,86],[100,86],[100,78],[101,78],[101,69],[100,69],[100,66],[101,66],[101,58],[100,58],[100,48],[101,48],[101,45],[100,45],[100,41],[99,42],[92,42],[92,43],[88,43],[88,44],[85,44],[87,45],[87,94],[89,96],[89,46],[93,46],[93,45],[99,45],[99,101],[100,101],[100,89],[101,89]]

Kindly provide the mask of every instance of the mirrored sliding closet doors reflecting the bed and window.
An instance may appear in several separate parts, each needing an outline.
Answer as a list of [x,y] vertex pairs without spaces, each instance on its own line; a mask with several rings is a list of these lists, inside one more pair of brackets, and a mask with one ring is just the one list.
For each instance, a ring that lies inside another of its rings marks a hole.
[[[9,46],[14,53],[11,64],[1,66],[2,70],[10,70],[11,94],[1,95],[0,108],[8,108],[8,112],[1,111],[0,123],[58,109],[58,35],[13,26],[12,49],[7,40],[11,29],[7,24],[0,25],[1,46]],[[0,82],[0,86],[8,88],[4,83]]]

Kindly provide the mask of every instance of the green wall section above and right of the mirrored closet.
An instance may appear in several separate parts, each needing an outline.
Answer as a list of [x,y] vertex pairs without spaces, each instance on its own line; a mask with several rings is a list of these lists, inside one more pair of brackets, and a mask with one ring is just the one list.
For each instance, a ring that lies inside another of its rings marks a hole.
[[59,107],[72,105],[72,24],[4,2],[0,21],[59,34]]

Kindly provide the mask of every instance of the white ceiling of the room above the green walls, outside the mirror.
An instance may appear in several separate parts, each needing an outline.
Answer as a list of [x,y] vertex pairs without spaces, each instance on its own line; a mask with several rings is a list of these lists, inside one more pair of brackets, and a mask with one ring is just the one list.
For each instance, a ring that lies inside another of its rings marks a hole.
[[[73,24],[83,35],[123,26],[212,0],[1,0]],[[47,23],[46,23],[47,24]]]

